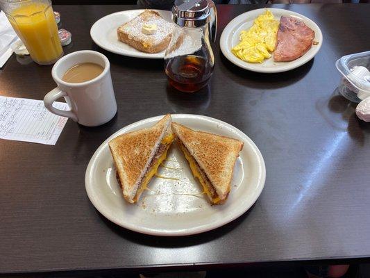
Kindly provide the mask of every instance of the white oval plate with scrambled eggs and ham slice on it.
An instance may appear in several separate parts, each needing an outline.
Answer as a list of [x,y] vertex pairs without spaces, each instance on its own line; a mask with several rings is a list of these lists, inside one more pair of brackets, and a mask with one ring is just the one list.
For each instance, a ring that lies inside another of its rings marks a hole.
[[251,10],[235,17],[220,38],[221,51],[231,63],[262,73],[293,70],[314,58],[322,44],[316,23],[278,8]]

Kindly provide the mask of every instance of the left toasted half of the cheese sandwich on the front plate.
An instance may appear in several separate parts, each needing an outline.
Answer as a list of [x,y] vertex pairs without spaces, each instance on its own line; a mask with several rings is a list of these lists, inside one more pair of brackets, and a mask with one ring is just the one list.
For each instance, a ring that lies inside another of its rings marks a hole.
[[137,202],[166,158],[173,141],[171,115],[165,115],[151,128],[124,133],[110,140],[110,152],[124,198],[128,202]]

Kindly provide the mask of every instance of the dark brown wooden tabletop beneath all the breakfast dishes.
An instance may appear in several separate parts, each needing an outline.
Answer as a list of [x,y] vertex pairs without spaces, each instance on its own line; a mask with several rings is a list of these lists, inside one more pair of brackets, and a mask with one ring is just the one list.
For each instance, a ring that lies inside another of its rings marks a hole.
[[[337,95],[335,60],[370,48],[370,5],[282,5],[310,17],[323,32],[319,54],[281,74],[257,74],[229,63],[213,44],[209,90],[167,88],[162,60],[103,51],[90,27],[135,6],[55,6],[72,31],[65,53],[108,56],[119,111],[108,124],[72,120],[55,146],[0,141],[0,273],[213,268],[254,263],[351,263],[370,258],[370,124]],[[219,6],[219,35],[255,6]],[[51,66],[0,70],[0,94],[42,99],[56,84]],[[196,113],[233,124],[262,152],[267,179],[242,217],[197,236],[161,238],[106,220],[85,193],[85,169],[101,142],[121,127],[165,113]],[[8,277],[8,275],[6,275]]]

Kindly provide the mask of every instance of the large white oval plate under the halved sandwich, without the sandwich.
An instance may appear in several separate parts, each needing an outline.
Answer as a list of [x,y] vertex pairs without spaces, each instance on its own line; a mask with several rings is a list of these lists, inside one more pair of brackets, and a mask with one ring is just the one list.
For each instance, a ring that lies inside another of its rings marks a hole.
[[226,122],[201,115],[174,114],[174,122],[192,129],[237,138],[244,142],[235,164],[231,191],[226,204],[211,206],[201,194],[201,186],[190,172],[176,143],[170,147],[165,165],[159,174],[176,177],[178,181],[153,177],[137,204],[124,200],[117,183],[115,166],[108,142],[121,133],[153,126],[162,116],[151,117],[120,129],[92,156],[85,174],[85,186],[95,208],[121,227],[156,236],[185,236],[199,234],[220,227],[245,213],[260,196],[266,170],[262,155],[242,131]]

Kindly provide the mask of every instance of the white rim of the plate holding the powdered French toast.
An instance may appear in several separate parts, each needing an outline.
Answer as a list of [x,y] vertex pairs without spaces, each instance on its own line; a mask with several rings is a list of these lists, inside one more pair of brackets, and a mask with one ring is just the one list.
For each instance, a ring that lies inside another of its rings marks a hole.
[[[158,13],[170,13],[168,10],[154,10]],[[144,9],[136,9],[136,10],[121,10],[117,13],[111,13],[110,15],[106,15],[105,17],[101,17],[101,19],[98,19],[94,24],[92,24],[92,27],[90,28],[90,36],[92,40],[102,49],[106,49],[106,51],[110,51],[114,54],[119,54],[123,56],[129,56],[129,57],[135,57],[135,58],[149,58],[149,59],[163,59],[165,58],[165,52],[162,51],[160,53],[145,53],[138,51],[136,49],[121,49],[121,51],[117,51],[114,47],[111,47],[110,44],[103,44],[101,43],[101,40],[99,40],[99,36],[96,34],[97,30],[99,29],[99,24],[101,22],[109,19],[110,17],[114,17],[115,15],[124,14],[124,13],[137,13],[140,14],[144,12]],[[118,26],[117,26],[118,27]],[[122,42],[124,43],[124,42]]]

